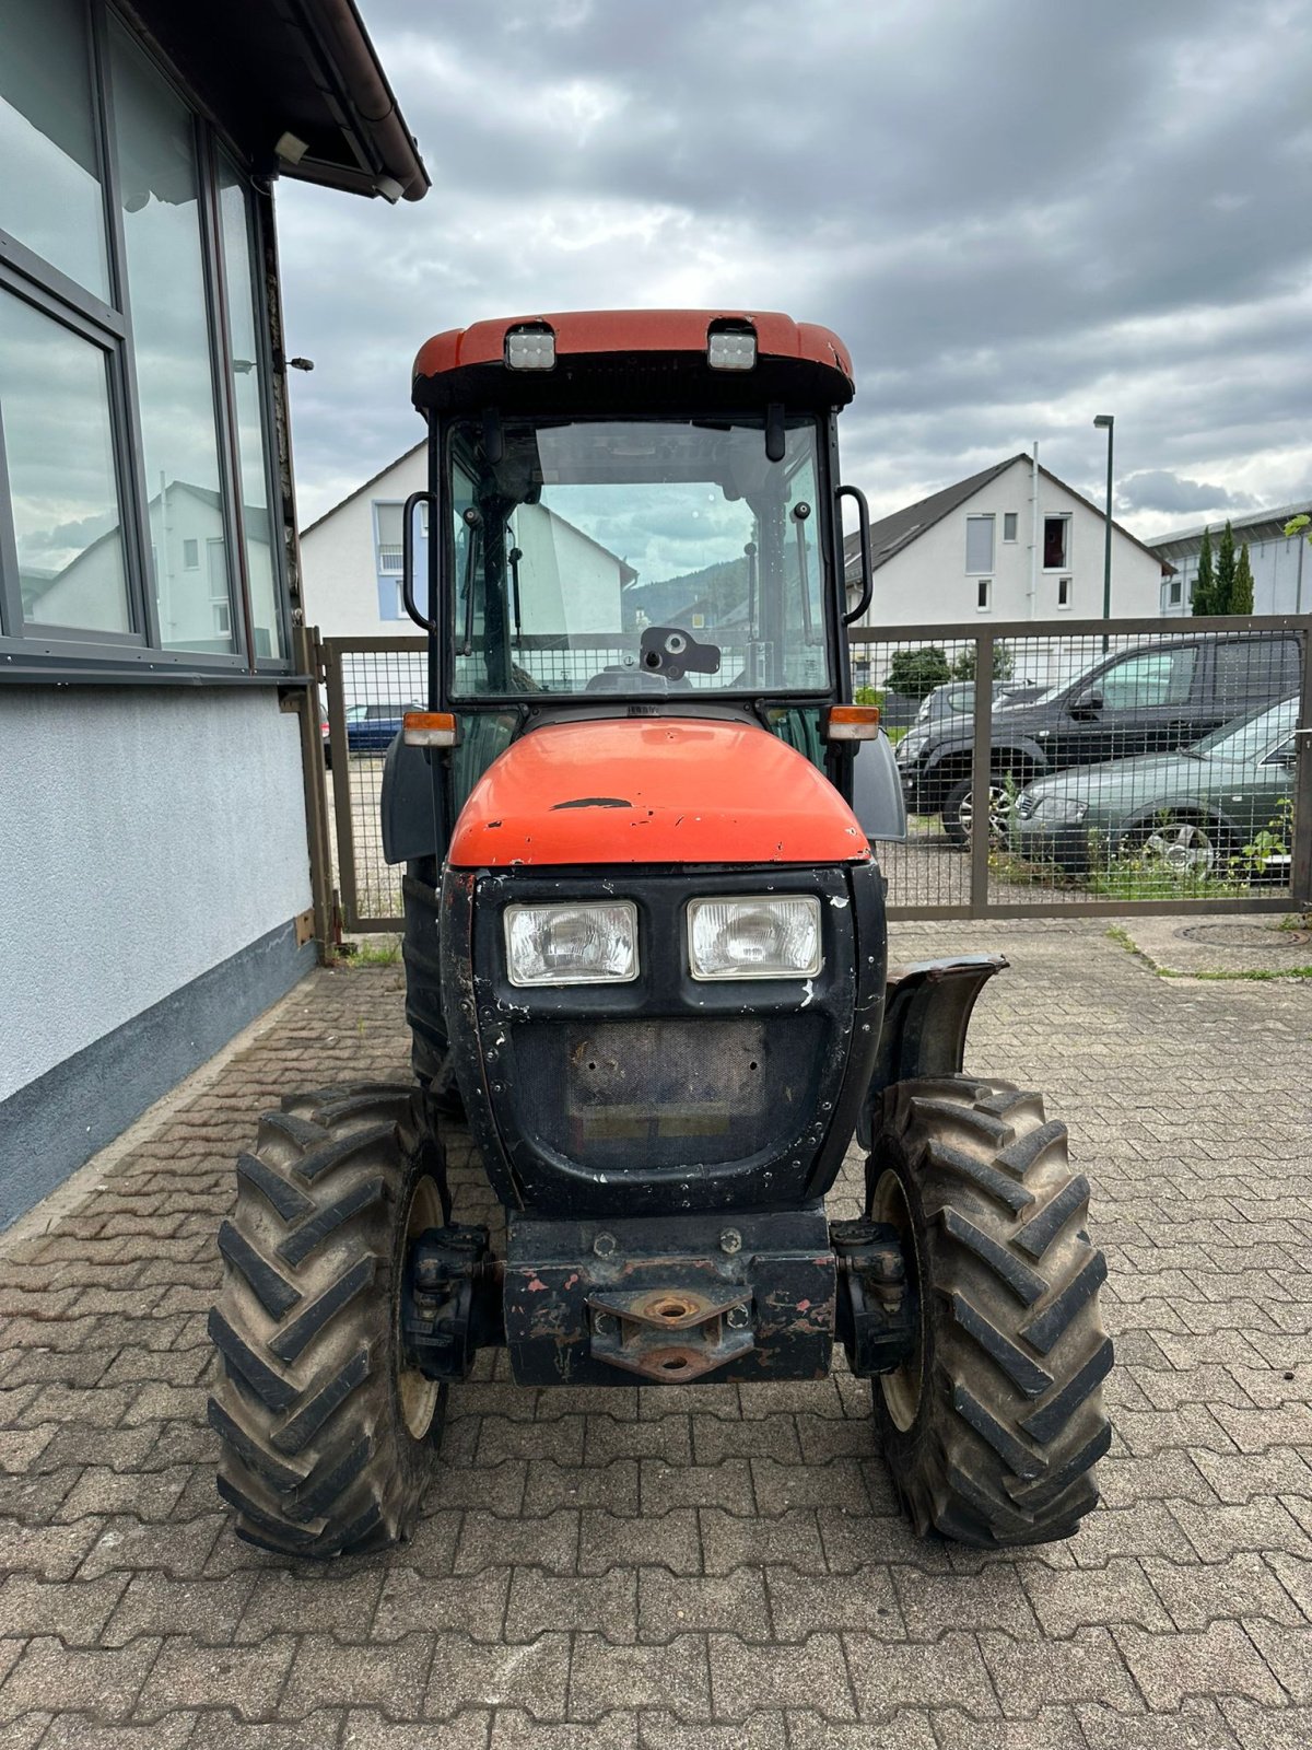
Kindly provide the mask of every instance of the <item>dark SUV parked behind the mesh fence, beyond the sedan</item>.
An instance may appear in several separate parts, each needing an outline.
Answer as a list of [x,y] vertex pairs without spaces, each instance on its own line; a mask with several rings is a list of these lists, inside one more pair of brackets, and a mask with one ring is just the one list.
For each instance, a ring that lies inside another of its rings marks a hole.
[[[994,709],[990,816],[1046,772],[1172,752],[1232,718],[1277,704],[1298,682],[1293,632],[1200,632],[1104,656],[1030,704]],[[973,758],[971,718],[917,724],[897,744],[908,812],[941,812],[959,845],[971,838]]]

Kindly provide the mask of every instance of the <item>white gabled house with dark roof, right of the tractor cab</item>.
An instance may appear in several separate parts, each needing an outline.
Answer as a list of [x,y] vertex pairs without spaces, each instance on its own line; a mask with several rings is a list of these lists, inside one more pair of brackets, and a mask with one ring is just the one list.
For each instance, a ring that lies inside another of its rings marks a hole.
[[[871,630],[1102,614],[1104,513],[1032,457],[959,480],[871,525]],[[859,581],[848,536],[847,581]],[[1114,618],[1160,614],[1170,564],[1113,523]]]

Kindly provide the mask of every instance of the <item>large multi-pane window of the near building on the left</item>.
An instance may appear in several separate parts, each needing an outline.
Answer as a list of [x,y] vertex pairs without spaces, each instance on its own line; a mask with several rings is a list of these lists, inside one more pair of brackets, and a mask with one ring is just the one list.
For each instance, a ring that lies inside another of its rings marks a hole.
[[285,667],[245,170],[100,0],[7,5],[0,164],[0,676]]

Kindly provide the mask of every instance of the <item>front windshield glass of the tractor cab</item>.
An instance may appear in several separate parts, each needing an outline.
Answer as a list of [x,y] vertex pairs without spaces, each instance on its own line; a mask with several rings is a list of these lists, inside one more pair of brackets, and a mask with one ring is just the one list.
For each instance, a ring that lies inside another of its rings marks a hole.
[[460,422],[457,698],[824,693],[812,420]]

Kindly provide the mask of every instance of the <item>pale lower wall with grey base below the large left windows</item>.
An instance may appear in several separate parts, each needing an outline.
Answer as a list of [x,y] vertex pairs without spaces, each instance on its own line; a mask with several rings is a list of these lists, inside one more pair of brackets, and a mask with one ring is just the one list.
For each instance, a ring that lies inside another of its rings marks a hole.
[[266,688],[0,691],[0,1227],[311,964],[297,737]]

